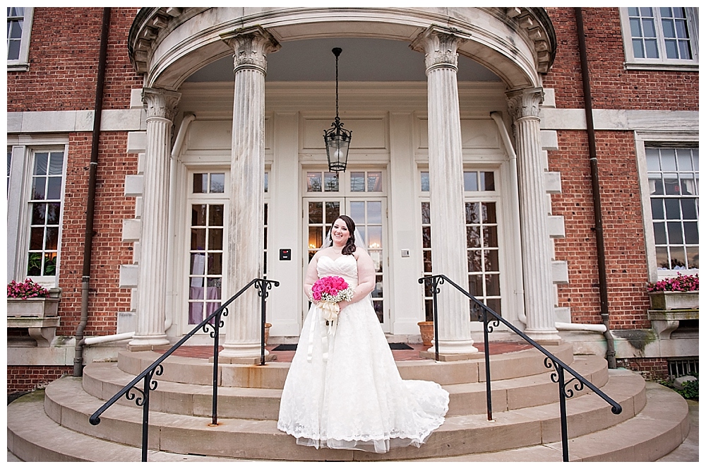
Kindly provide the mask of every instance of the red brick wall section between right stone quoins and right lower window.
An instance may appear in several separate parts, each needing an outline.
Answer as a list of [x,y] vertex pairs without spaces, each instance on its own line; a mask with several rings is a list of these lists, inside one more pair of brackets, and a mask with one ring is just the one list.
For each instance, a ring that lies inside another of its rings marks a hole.
[[[632,133],[596,134],[603,211],[606,280],[611,328],[650,328],[647,258]],[[596,236],[585,131],[558,131],[549,170],[561,172],[552,213],[564,217],[566,238],[554,242],[556,259],[568,261],[569,283],[558,285],[560,307],[578,323],[600,321]]]

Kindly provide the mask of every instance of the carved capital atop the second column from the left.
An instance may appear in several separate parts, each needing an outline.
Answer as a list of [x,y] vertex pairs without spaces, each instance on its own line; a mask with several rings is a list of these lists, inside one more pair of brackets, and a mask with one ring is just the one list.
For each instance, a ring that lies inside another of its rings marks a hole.
[[224,32],[221,40],[234,51],[233,70],[258,69],[267,73],[267,54],[280,50],[280,43],[261,26]]

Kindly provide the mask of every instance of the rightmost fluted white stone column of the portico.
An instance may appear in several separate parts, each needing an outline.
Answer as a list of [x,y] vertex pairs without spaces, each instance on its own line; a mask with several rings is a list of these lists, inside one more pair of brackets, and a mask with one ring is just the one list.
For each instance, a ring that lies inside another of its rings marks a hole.
[[544,165],[539,137],[539,105],[542,88],[508,93],[517,147],[520,187],[520,238],[525,278],[525,333],[534,340],[561,340],[554,326],[551,280],[551,249],[547,227]]

